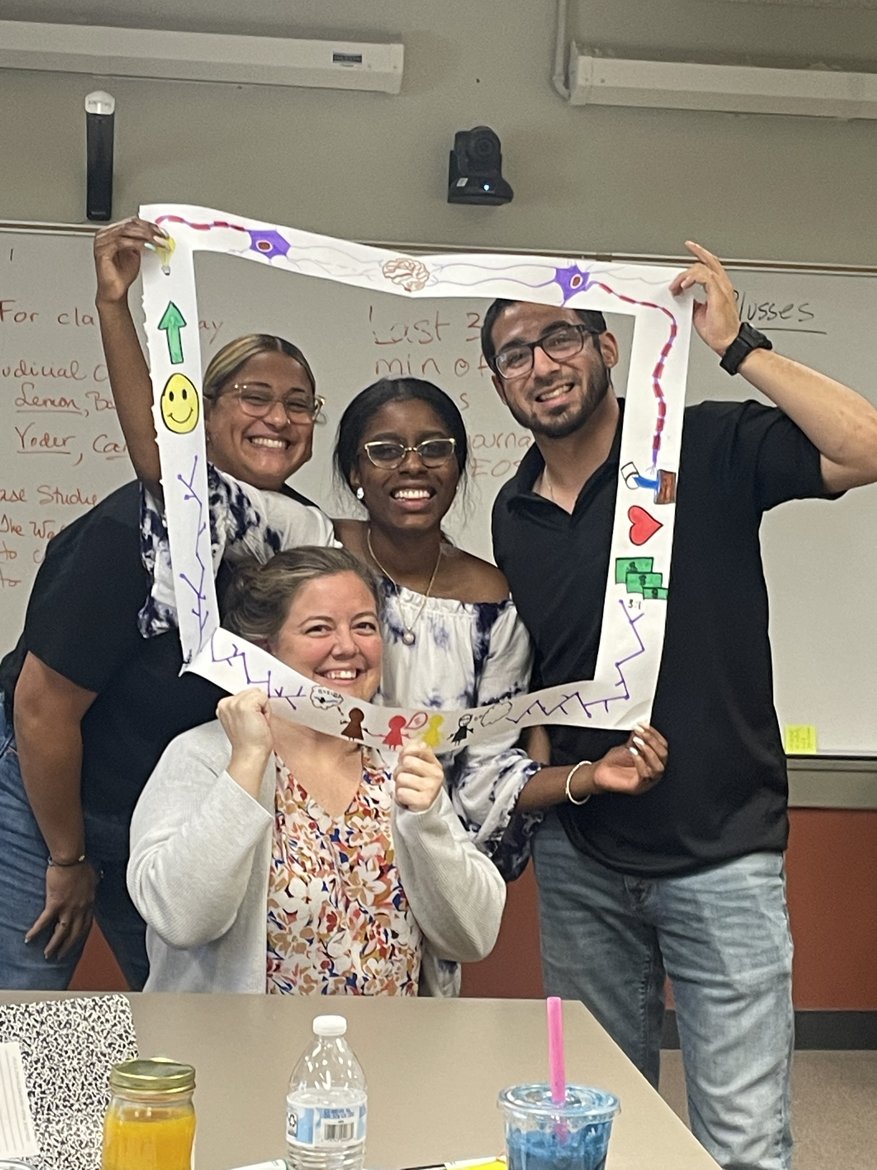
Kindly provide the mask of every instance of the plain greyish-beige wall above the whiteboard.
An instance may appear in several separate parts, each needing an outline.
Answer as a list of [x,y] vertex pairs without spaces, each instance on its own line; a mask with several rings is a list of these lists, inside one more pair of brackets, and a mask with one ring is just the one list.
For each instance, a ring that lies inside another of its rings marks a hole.
[[[877,123],[568,108],[553,0],[19,0],[0,18],[398,37],[398,97],[112,81],[116,212],[187,200],[368,240],[877,264]],[[712,0],[580,0],[572,30],[619,54],[859,69],[877,13]],[[868,56],[870,55],[870,56]],[[0,75],[0,218],[83,215],[91,78]],[[492,125],[511,206],[450,207],[454,131]]]

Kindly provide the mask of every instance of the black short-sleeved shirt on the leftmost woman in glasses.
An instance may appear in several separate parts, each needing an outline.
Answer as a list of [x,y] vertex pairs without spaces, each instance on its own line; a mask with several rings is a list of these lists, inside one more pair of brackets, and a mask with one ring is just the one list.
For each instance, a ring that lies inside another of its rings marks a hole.
[[[291,488],[284,494],[309,503]],[[228,576],[221,566],[220,597]],[[82,720],[82,803],[92,815],[130,817],[171,739],[213,720],[226,694],[199,675],[180,675],[175,629],[140,636],[137,614],[149,589],[140,559],[140,489],[126,483],[49,541],[25,631],[0,662],[11,720],[28,651],[97,691]]]

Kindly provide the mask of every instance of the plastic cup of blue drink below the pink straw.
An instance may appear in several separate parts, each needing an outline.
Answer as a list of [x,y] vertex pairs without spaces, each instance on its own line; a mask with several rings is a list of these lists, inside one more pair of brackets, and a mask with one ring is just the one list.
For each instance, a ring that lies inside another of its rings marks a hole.
[[602,1089],[567,1085],[555,1104],[547,1085],[503,1089],[509,1170],[602,1170],[619,1099]]

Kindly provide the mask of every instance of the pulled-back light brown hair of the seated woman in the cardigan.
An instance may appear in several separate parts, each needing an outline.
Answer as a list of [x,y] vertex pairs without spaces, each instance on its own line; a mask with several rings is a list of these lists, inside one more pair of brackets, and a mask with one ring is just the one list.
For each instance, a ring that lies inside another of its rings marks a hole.
[[276,553],[264,565],[256,562],[241,565],[226,593],[222,625],[250,642],[272,642],[308,581],[337,573],[355,573],[374,598],[380,617],[381,590],[368,565],[346,549],[305,544]]

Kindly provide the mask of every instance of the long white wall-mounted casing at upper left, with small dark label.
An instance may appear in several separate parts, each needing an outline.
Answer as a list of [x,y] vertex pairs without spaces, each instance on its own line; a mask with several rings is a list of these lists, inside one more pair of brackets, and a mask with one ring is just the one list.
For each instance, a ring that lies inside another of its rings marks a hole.
[[398,94],[402,44],[0,20],[0,68]]

